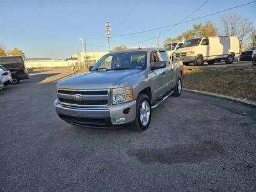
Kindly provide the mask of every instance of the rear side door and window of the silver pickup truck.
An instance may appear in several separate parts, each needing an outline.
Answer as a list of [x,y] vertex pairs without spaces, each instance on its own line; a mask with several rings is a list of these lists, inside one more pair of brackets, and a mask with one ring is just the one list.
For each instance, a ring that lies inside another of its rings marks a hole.
[[159,51],[161,55],[161,61],[166,63],[166,67],[164,69],[164,84],[166,84],[166,92],[173,87],[174,83],[174,72],[173,66],[171,64],[170,58],[168,58],[168,54],[166,51]]

